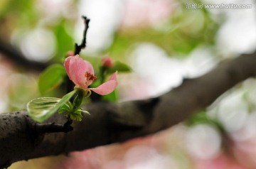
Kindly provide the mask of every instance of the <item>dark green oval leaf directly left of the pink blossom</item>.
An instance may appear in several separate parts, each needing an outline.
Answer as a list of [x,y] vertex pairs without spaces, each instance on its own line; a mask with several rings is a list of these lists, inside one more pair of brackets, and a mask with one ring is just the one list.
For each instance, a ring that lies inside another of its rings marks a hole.
[[65,76],[65,68],[63,65],[54,64],[44,70],[38,80],[38,87],[41,94],[45,94],[50,90],[58,87]]

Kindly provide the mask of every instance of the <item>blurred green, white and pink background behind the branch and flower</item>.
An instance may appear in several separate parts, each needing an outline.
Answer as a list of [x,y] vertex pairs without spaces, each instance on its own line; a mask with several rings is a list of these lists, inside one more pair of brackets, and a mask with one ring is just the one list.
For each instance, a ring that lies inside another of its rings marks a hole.
[[[1,113],[63,95],[58,88],[42,94],[38,77],[80,43],[82,15],[91,21],[81,57],[95,67],[105,56],[132,67],[119,74],[119,102],[158,96],[256,48],[254,0],[1,0]],[[245,80],[154,136],[10,168],[256,168],[255,86],[255,79]]]

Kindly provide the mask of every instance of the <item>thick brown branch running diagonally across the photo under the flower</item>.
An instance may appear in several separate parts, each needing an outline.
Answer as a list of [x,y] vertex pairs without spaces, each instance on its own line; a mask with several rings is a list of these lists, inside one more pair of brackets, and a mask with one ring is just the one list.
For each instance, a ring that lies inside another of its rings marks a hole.
[[[26,111],[1,114],[0,166],[156,133],[187,119],[235,84],[255,75],[256,56],[242,55],[223,62],[202,77],[184,80],[180,87],[154,99],[90,104],[86,109],[91,116],[74,123],[74,130],[69,133],[36,133]],[[58,114],[50,121],[65,123]]]

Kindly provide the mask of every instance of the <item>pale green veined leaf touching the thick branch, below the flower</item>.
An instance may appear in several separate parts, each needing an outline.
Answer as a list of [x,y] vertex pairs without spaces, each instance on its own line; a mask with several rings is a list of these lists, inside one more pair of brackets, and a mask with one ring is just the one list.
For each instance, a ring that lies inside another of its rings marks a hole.
[[73,90],[60,99],[56,97],[40,97],[33,99],[27,104],[28,115],[38,122],[43,122],[52,116],[63,104],[69,101],[71,97],[77,92]]

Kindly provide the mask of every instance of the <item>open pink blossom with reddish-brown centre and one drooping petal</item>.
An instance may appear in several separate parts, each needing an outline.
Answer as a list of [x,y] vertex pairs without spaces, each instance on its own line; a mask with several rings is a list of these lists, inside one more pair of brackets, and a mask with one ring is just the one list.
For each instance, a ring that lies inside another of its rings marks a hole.
[[97,78],[90,62],[82,60],[79,55],[69,56],[64,62],[65,70],[68,77],[75,83],[75,87],[87,91],[88,89],[97,94],[110,94],[117,87],[117,72],[110,77],[110,80],[101,84],[96,88],[88,88],[90,84]]

